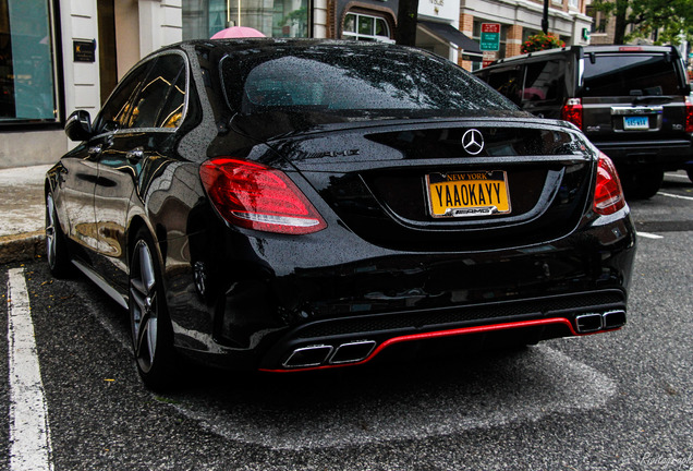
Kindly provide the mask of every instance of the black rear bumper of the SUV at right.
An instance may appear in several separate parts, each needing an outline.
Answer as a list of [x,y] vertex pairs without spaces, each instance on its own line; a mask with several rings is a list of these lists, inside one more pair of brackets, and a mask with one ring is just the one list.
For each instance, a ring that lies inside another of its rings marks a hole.
[[593,140],[593,143],[613,160],[619,171],[652,166],[664,170],[679,170],[693,159],[690,138],[627,142]]

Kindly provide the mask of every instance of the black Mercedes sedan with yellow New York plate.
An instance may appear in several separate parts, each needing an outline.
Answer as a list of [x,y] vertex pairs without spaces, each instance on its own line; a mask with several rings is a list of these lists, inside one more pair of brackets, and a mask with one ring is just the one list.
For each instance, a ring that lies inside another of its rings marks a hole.
[[50,270],[129,311],[150,388],[181,355],[294,372],[625,324],[635,231],[609,158],[435,55],[181,43],[65,132]]

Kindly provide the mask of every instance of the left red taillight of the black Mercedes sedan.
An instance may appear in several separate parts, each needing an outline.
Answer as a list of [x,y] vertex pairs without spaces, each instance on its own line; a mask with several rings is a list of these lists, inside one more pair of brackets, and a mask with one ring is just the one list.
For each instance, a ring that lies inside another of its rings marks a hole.
[[200,166],[199,177],[214,206],[232,225],[290,234],[327,227],[301,190],[280,170],[215,158]]

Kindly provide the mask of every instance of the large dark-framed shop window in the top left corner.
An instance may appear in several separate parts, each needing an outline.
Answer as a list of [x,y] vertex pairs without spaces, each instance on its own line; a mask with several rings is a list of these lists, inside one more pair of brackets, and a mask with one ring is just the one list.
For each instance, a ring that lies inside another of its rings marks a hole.
[[46,0],[0,0],[0,124],[58,120],[50,25]]

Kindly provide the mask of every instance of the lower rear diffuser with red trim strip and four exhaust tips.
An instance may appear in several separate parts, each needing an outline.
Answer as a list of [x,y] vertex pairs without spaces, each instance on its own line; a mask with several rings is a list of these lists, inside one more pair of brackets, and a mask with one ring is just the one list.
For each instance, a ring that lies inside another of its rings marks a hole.
[[[268,372],[364,364],[398,343],[459,338],[478,343],[512,334],[521,342],[615,330],[625,324],[625,294],[605,290],[309,323],[292,329],[263,358]],[[471,340],[470,337],[476,336]]]

